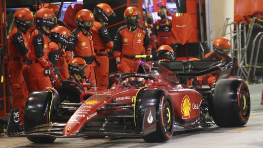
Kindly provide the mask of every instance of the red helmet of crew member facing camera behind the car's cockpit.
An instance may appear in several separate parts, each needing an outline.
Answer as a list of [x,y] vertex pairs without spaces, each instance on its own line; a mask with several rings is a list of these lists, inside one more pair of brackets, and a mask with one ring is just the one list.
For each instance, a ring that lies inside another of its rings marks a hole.
[[[135,18],[131,18],[131,16],[135,16]],[[126,8],[126,10],[124,11],[124,18],[127,25],[131,25],[132,27],[134,27],[136,24],[139,23],[140,20],[139,9],[134,6]]]

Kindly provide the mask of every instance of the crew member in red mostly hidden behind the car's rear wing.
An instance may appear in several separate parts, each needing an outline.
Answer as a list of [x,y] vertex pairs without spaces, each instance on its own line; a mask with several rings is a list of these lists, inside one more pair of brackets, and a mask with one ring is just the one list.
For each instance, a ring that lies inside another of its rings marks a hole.
[[[227,60],[228,66],[233,68],[228,78],[235,78],[234,62],[232,58],[228,55],[231,49],[231,42],[225,37],[218,37],[213,42],[212,52],[206,54],[203,60]],[[214,82],[217,80],[220,71],[214,72],[212,74],[198,76],[197,83],[198,88],[202,88],[202,81],[204,81],[210,88],[212,88]]]

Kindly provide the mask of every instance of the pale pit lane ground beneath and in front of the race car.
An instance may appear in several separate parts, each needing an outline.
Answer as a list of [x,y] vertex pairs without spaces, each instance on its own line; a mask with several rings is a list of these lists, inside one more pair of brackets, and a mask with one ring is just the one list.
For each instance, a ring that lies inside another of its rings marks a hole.
[[261,148],[263,147],[263,105],[261,93],[263,84],[249,85],[251,95],[251,114],[244,127],[196,129],[174,132],[165,143],[146,143],[141,138],[75,138],[56,139],[53,144],[34,144],[26,138],[0,137],[0,148]]

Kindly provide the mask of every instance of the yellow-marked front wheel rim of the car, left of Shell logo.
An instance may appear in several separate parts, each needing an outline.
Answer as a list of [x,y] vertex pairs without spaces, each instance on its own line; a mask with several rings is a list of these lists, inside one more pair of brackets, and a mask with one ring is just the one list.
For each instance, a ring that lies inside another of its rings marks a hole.
[[172,110],[170,102],[167,100],[167,98],[163,102],[163,108],[162,108],[162,115],[163,115],[163,123],[164,128],[167,132],[170,132],[172,129]]

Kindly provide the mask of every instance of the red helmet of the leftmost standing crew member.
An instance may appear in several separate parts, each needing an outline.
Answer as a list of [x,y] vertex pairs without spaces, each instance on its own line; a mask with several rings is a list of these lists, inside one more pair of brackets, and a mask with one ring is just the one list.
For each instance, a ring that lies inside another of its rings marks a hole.
[[[28,30],[33,24],[33,12],[31,12],[27,8],[20,8],[14,12],[13,20],[18,26],[21,26]],[[30,22],[26,23],[26,21]]]

